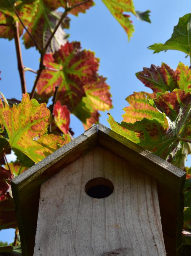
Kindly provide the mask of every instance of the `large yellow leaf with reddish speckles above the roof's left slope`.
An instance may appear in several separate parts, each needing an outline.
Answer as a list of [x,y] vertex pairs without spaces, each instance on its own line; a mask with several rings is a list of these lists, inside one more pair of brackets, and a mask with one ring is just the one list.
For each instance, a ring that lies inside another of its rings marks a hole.
[[11,147],[20,150],[32,161],[39,162],[69,142],[67,135],[61,137],[46,134],[51,113],[45,103],[39,104],[35,99],[30,100],[28,94],[23,94],[18,106],[13,105],[10,108],[5,98],[4,102],[5,106],[0,99],[0,115],[8,133],[7,140]]

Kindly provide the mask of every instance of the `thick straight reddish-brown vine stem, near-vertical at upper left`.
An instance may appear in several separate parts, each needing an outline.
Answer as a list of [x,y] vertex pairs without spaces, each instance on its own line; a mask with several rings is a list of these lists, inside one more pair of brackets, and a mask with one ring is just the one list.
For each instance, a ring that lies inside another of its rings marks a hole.
[[18,30],[18,21],[13,27],[14,30],[14,38],[15,38],[15,47],[17,52],[17,63],[18,63],[18,72],[21,80],[22,93],[26,93],[26,82],[25,82],[25,71],[21,54],[21,45],[20,45],[20,36]]

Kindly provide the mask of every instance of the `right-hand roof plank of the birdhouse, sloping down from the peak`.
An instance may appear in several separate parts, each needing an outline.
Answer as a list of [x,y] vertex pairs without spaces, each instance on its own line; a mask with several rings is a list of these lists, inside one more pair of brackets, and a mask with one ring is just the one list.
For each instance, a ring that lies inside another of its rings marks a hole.
[[177,192],[183,191],[186,179],[186,173],[183,170],[125,139],[102,124],[98,125],[98,144],[110,149],[135,166],[141,166],[145,173],[170,189]]

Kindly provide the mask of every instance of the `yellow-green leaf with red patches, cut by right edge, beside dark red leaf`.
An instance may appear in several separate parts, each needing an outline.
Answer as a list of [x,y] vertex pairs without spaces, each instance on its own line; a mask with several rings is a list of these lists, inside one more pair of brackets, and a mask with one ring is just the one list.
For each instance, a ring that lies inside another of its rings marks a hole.
[[175,71],[178,87],[185,92],[191,92],[191,70],[182,62],[178,64]]

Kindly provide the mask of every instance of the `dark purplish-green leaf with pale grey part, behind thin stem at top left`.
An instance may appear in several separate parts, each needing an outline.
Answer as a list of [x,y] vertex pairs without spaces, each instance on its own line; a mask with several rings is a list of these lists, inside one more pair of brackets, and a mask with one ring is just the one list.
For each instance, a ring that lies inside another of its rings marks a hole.
[[[38,9],[33,15],[32,20],[30,22],[26,22],[28,27],[28,31],[33,36],[33,38],[38,42],[41,49],[43,49],[52,34],[55,26],[57,25],[61,12],[59,11],[52,11],[49,9],[48,5],[45,5],[43,1],[38,1]],[[61,25],[57,29],[51,44],[47,51],[56,51],[60,49],[60,46],[67,41],[67,34],[63,31],[63,28],[69,27],[69,18],[66,17],[63,19]],[[25,32],[24,36],[24,44],[26,49],[35,46],[34,42],[32,41],[31,37],[27,32]]]

